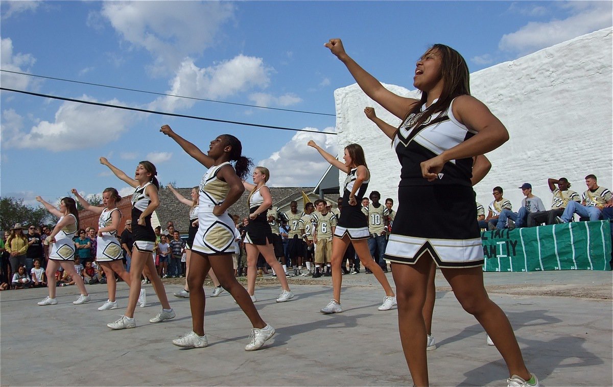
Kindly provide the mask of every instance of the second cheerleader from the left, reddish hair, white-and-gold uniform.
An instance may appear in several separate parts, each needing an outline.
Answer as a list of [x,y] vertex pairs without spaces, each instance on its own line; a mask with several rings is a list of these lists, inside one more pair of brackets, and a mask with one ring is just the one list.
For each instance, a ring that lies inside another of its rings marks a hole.
[[[128,286],[131,285],[130,274],[123,267],[123,252],[117,239],[117,228],[120,225],[121,211],[117,208],[117,202],[121,200],[119,192],[109,187],[102,191],[102,206],[93,206],[88,203],[76,189],[71,190],[78,202],[88,211],[98,214],[98,234],[96,238],[96,261],[102,267],[107,276],[107,299],[98,310],[118,309],[115,293],[117,282],[115,273],[123,279]],[[145,289],[140,290],[139,304],[144,307],[147,304]]]

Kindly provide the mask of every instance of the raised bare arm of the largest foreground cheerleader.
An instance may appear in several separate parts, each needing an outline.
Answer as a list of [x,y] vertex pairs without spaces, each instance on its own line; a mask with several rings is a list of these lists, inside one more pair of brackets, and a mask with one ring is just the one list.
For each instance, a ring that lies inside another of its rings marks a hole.
[[411,109],[411,105],[419,103],[417,99],[401,97],[384,88],[381,82],[376,80],[375,77],[362,69],[356,61],[349,57],[340,39],[330,39],[324,46],[329,48],[332,54],[345,64],[362,91],[393,115],[403,119]]

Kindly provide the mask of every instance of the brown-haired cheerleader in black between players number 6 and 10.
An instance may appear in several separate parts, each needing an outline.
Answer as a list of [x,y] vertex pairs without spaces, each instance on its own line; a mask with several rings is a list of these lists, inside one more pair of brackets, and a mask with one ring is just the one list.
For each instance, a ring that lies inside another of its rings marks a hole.
[[341,272],[341,262],[349,243],[356,250],[360,262],[367,270],[370,270],[383,287],[386,296],[383,298],[383,304],[378,310],[390,310],[396,304],[396,296],[394,290],[389,285],[389,281],[379,266],[370,255],[367,239],[370,237],[368,233],[368,219],[364,212],[360,209],[362,198],[368,188],[370,181],[370,172],[366,167],[366,159],[362,147],[357,144],[349,144],[345,147],[345,162],[337,160],[328,152],[319,147],[315,141],[308,141],[308,146],[317,149],[327,162],[337,167],[347,174],[345,178],[345,187],[343,189],[343,204],[341,206],[341,216],[338,219],[337,227],[334,230],[334,238],[332,240],[332,287],[334,289],[333,298],[330,303],[321,309],[323,314],[343,312],[341,307],[341,284],[343,282],[343,273]]

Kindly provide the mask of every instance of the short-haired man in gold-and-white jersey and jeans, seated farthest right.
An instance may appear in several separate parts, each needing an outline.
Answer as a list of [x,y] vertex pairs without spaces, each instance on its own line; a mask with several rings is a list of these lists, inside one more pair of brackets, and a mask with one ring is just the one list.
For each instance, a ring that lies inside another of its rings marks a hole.
[[555,218],[557,222],[568,223],[573,219],[574,214],[579,214],[580,217],[589,217],[590,220],[599,220],[603,208],[613,205],[611,191],[604,187],[598,187],[595,175],[585,176],[585,185],[587,190],[581,197],[581,203],[569,201],[562,216]]

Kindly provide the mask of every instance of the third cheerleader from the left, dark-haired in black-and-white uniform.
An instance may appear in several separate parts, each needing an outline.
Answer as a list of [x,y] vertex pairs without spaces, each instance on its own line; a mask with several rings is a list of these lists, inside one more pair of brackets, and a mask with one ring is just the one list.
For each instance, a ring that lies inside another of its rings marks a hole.
[[155,263],[151,259],[153,246],[155,244],[155,232],[151,227],[151,214],[159,206],[158,189],[159,183],[156,175],[155,165],[148,161],[142,161],[136,167],[134,179],[130,178],[124,171],[112,165],[105,157],[100,158],[100,163],[106,165],[121,180],[134,187],[132,195],[132,262],[130,265],[130,295],[126,312],[119,320],[107,324],[111,329],[134,328],[134,309],[140,296],[140,274],[151,279],[153,290],[162,304],[162,310],[156,317],[150,318],[150,323],[170,320],[175,317],[175,312],[170,307],[164,284],[155,269]]

